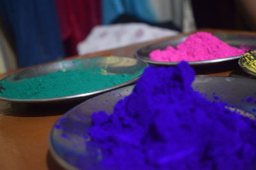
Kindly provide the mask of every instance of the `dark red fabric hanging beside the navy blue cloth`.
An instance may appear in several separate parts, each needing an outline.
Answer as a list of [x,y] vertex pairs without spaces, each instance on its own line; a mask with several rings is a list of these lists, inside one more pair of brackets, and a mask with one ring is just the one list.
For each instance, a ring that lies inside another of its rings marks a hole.
[[55,0],[60,20],[61,38],[67,56],[77,55],[77,43],[101,24],[100,0]]

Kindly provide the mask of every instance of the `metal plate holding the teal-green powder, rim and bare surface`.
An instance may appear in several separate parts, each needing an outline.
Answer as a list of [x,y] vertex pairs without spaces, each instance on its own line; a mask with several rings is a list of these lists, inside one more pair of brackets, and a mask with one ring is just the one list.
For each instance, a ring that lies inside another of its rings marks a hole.
[[[148,64],[141,60],[132,59],[129,57],[92,57],[92,58],[81,58],[81,59],[72,59],[72,60],[62,60],[57,62],[51,62],[48,64],[41,64],[38,66],[29,67],[23,71],[12,74],[3,80],[16,81],[22,80],[24,78],[32,78],[36,76],[42,76],[47,73],[53,73],[58,70],[74,70],[74,69],[93,69],[95,67],[100,67],[106,71],[106,74],[129,74],[132,75],[132,79],[124,83],[107,87],[106,89],[95,90],[92,92],[87,92],[84,94],[75,94],[72,96],[63,96],[63,97],[51,97],[51,98],[40,98],[40,99],[17,99],[17,98],[8,98],[1,96],[0,100],[15,102],[15,103],[52,103],[60,101],[70,101],[77,99],[84,99],[85,97],[95,96],[102,92],[107,92],[109,90],[117,89],[125,85],[134,83],[138,79],[145,67]],[[92,80],[93,81],[93,80]],[[70,82],[76,83],[76,82]],[[58,88],[58,87],[56,87]],[[53,89],[54,90],[54,89]]]

